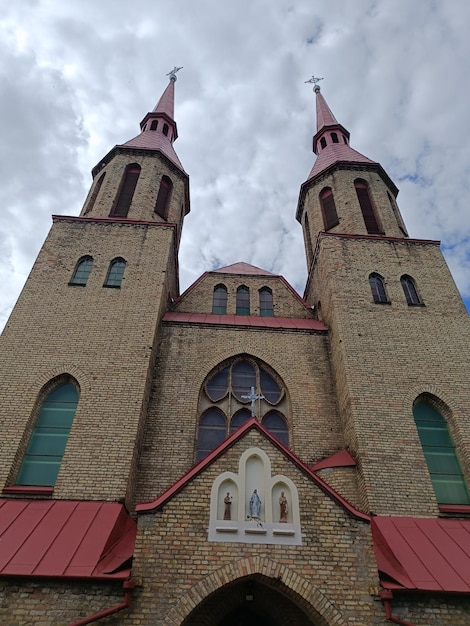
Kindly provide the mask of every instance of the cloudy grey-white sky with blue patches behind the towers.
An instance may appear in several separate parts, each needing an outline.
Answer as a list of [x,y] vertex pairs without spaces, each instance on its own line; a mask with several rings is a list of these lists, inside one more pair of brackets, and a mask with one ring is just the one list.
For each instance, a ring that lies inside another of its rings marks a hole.
[[79,213],[91,168],[139,132],[175,64],[182,290],[243,260],[303,292],[314,73],[468,306],[469,27],[463,0],[0,0],[0,327],[51,215]]

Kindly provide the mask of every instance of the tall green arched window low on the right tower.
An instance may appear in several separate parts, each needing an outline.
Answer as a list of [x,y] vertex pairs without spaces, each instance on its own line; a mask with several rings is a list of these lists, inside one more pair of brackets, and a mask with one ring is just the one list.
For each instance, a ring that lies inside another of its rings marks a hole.
[[424,458],[439,504],[470,504],[465,478],[444,417],[425,400],[413,407]]

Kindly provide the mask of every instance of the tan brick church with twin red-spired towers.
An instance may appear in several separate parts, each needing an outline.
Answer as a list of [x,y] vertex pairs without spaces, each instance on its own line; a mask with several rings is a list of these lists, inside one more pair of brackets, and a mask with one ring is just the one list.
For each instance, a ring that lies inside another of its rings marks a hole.
[[469,318],[439,242],[315,85],[303,296],[243,262],[181,294],[175,80],[53,216],[1,338],[0,623],[468,626]]

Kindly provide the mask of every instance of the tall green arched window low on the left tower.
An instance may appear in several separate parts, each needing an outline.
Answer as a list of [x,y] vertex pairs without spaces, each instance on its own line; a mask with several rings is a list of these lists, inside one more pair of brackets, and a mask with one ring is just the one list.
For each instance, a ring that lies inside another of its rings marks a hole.
[[46,397],[16,479],[17,485],[55,485],[77,404],[78,391],[72,383],[59,385]]

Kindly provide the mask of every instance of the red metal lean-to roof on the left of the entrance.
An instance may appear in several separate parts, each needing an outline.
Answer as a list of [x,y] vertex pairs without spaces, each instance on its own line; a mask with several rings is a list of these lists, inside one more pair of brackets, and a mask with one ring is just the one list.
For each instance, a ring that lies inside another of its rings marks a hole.
[[116,502],[0,499],[0,574],[125,580],[136,530]]

